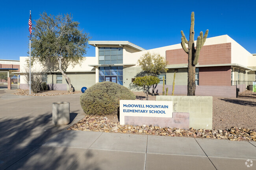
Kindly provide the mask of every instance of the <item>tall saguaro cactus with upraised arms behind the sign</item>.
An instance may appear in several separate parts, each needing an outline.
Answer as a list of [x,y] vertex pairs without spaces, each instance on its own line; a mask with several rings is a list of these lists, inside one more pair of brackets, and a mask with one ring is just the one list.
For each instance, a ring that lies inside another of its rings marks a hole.
[[[194,25],[195,25],[195,14],[194,12],[191,13],[191,25],[190,25],[190,33],[189,33],[189,41],[187,41],[183,31],[181,31],[181,46],[184,49],[184,51],[188,54],[188,65],[187,65],[187,95],[188,96],[194,96],[195,95],[195,66],[197,65],[200,50],[202,46],[204,45],[204,42],[206,41],[207,35],[208,35],[208,29],[206,30],[204,37],[203,32],[200,32],[200,36],[197,37],[197,48],[195,48],[195,42],[194,42]],[[188,44],[188,49],[186,47],[186,44]]]

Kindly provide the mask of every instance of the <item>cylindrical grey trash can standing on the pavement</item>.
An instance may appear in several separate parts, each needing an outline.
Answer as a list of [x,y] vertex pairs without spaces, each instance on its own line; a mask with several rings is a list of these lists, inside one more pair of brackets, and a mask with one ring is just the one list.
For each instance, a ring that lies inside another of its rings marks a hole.
[[54,126],[64,126],[70,122],[69,102],[52,103],[52,122]]

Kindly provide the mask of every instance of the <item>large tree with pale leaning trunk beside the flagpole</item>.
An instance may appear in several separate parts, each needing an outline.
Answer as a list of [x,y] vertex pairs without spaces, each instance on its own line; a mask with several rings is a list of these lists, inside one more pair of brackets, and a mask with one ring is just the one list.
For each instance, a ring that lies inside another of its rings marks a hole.
[[58,69],[69,84],[72,84],[63,70],[63,62],[69,62],[74,67],[85,60],[87,42],[90,37],[79,29],[79,23],[72,16],[40,14],[33,27],[31,54],[32,60],[38,60],[43,66],[58,63]]

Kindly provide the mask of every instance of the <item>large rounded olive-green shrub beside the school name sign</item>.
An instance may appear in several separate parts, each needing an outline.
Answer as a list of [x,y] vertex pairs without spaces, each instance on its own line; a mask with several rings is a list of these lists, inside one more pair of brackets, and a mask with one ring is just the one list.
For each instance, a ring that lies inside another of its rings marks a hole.
[[114,82],[99,82],[91,86],[80,97],[83,111],[88,115],[117,114],[119,100],[135,100],[128,88]]

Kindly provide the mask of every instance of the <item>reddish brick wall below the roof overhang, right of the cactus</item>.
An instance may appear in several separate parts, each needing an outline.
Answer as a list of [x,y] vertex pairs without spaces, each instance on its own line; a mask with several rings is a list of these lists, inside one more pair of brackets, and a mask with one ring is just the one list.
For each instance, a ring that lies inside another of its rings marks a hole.
[[199,86],[230,86],[231,66],[200,67]]

